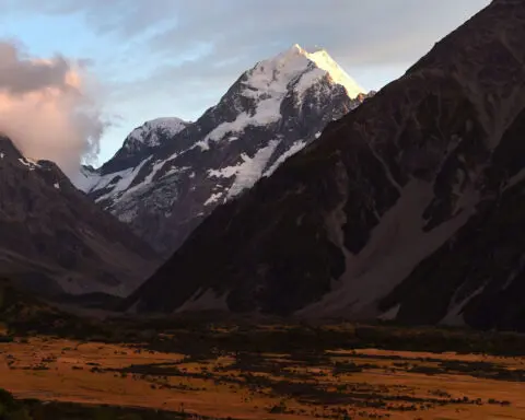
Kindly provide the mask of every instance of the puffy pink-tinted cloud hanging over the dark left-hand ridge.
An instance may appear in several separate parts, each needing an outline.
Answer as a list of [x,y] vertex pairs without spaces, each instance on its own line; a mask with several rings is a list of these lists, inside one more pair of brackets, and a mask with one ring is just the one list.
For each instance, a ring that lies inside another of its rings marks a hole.
[[94,159],[105,128],[95,92],[85,62],[27,57],[0,42],[0,131],[24,155],[54,161],[68,174],[83,158]]

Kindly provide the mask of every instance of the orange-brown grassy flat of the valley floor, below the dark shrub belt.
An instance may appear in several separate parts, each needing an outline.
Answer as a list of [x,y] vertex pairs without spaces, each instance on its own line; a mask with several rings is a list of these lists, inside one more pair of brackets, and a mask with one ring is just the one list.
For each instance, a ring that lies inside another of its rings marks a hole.
[[[168,340],[15,338],[0,343],[0,388],[218,419],[525,419],[525,357],[242,345],[177,352]],[[155,418],[135,416],[115,419]]]

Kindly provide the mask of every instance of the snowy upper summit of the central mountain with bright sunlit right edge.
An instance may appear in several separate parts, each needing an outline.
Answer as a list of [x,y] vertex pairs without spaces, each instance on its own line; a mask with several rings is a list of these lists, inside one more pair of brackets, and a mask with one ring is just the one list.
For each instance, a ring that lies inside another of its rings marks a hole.
[[213,110],[224,116],[228,112],[231,117],[224,118],[194,147],[207,151],[210,142],[218,142],[226,135],[237,139],[249,128],[279,124],[289,106],[296,107],[299,114],[307,114],[310,110],[304,104],[326,103],[337,91],[352,101],[361,100],[364,93],[328,52],[307,52],[295,44],[257,62],[241,77]]

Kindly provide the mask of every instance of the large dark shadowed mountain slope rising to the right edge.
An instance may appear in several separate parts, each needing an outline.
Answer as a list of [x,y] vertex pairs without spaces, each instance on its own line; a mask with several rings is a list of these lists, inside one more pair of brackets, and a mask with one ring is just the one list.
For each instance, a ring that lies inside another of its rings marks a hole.
[[525,2],[208,218],[127,305],[525,330]]

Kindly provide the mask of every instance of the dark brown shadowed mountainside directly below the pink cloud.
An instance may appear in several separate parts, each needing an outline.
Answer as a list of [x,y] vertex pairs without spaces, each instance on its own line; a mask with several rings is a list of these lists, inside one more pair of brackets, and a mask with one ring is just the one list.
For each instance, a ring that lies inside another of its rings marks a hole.
[[158,256],[49,161],[0,137],[0,273],[42,294],[126,295]]

